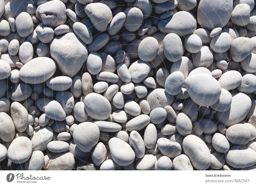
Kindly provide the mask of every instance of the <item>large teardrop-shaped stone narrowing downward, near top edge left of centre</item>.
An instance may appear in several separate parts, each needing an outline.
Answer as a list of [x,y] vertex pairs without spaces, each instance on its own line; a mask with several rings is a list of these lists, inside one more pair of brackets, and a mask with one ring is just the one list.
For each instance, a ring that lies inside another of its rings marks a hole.
[[92,22],[93,27],[102,32],[108,27],[108,23],[112,20],[112,12],[110,8],[103,3],[90,3],[84,7],[86,15]]

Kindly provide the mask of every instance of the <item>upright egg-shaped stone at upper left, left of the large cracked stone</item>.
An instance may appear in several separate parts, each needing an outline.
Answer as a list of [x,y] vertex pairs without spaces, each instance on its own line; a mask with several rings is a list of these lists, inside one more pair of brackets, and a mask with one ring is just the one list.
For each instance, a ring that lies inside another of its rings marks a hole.
[[17,33],[21,37],[28,37],[33,32],[33,21],[27,12],[21,12],[15,19]]

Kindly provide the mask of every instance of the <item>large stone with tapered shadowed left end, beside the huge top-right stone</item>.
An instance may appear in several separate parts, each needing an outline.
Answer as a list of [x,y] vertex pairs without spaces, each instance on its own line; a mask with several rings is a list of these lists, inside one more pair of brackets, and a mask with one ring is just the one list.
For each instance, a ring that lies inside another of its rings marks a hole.
[[179,36],[186,36],[196,30],[196,20],[189,12],[180,11],[173,14],[167,21],[159,21],[158,29],[164,33],[175,33]]

